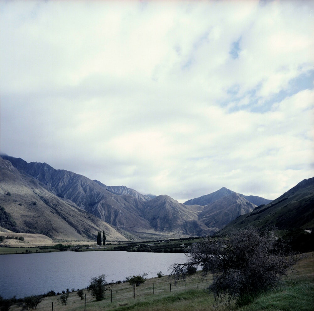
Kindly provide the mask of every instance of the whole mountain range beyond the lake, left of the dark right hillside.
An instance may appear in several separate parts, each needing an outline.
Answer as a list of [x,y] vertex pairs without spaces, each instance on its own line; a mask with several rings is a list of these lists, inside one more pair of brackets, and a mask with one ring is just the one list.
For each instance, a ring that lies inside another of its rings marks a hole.
[[[99,230],[106,231],[107,241],[212,235],[261,204],[272,201],[225,187],[182,204],[167,195],[106,186],[46,163],[0,158],[0,205],[15,223],[12,230],[54,241],[95,240]],[[8,229],[1,214],[0,225]]]

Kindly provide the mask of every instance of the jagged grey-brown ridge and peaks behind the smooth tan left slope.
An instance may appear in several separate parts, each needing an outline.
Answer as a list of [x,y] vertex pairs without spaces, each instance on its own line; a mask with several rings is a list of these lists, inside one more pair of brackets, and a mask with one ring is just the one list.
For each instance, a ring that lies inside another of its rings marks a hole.
[[[125,186],[106,186],[46,163],[27,163],[9,156],[3,159],[10,161],[23,178],[34,180],[51,196],[98,217],[117,230],[124,230],[124,236],[132,239],[209,235],[256,207],[245,196],[225,187],[207,195],[206,202],[211,198],[209,204],[185,205],[166,195],[154,197]],[[3,195],[1,188],[0,195]]]

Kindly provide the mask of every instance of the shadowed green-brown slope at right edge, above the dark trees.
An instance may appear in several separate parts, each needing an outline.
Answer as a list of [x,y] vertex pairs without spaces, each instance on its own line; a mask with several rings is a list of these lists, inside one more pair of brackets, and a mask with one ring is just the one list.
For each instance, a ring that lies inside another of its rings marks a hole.
[[271,203],[231,221],[218,234],[234,227],[273,225],[279,229],[314,227],[314,177],[302,180]]

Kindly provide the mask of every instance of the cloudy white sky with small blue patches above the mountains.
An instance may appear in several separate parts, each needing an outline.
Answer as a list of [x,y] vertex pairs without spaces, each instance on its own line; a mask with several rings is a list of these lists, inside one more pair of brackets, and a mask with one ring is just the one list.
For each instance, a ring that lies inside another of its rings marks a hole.
[[314,1],[0,0],[0,152],[183,203],[314,176]]

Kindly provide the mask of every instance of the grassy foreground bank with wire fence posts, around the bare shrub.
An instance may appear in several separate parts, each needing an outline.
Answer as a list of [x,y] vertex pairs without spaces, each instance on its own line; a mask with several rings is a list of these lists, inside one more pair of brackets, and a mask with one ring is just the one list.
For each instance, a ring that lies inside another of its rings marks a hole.
[[[232,305],[232,310],[239,311],[312,311],[314,310],[314,253],[308,254],[295,266],[296,272],[284,277],[278,288],[264,293],[248,302],[243,307]],[[168,276],[147,279],[136,287],[136,298],[133,298],[133,287],[128,283],[112,285],[106,292],[106,299],[96,302],[87,290],[86,310],[134,310],[134,311],[227,311],[224,304],[216,305],[213,295],[208,292],[208,280],[200,280],[199,274],[188,278],[176,286]],[[170,291],[171,284],[171,291]],[[111,303],[112,290],[112,303]],[[153,293],[154,290],[154,293]],[[83,311],[84,300],[76,292],[70,293],[67,305],[58,302],[58,296],[44,298],[37,310]],[[11,310],[20,310],[12,306]]]

